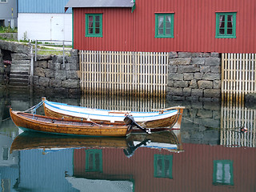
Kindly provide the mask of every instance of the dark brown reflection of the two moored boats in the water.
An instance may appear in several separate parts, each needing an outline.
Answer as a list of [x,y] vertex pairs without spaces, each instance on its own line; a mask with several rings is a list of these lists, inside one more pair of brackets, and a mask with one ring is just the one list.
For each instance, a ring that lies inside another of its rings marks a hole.
[[32,149],[65,149],[65,148],[118,148],[123,149],[126,156],[130,157],[140,146],[154,149],[179,151],[180,142],[172,131],[162,131],[154,134],[130,134],[127,138],[96,138],[60,136],[57,134],[42,134],[36,132],[23,132],[19,134],[11,145],[13,150]]

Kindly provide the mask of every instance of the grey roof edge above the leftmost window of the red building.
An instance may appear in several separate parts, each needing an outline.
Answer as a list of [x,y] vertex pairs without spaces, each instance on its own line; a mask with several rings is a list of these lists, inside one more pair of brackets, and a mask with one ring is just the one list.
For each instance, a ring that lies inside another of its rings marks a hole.
[[134,0],[70,0],[65,9],[69,7],[133,7]]

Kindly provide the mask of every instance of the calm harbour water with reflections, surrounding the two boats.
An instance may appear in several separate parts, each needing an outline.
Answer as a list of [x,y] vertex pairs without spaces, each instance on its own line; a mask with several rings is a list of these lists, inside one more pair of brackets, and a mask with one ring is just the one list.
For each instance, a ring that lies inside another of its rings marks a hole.
[[[9,107],[26,110],[42,96],[47,95],[0,90],[0,191],[256,191],[254,109],[145,97],[47,97],[112,110],[178,105],[186,110],[181,130],[159,134],[75,138],[21,133]],[[242,133],[241,127],[248,131]]]

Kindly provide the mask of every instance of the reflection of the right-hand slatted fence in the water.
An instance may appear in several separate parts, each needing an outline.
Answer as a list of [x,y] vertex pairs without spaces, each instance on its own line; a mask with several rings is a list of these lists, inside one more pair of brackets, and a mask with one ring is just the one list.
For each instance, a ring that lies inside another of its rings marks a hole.
[[[246,133],[239,131],[242,126],[248,129]],[[222,105],[221,145],[256,147],[256,110],[230,103]]]

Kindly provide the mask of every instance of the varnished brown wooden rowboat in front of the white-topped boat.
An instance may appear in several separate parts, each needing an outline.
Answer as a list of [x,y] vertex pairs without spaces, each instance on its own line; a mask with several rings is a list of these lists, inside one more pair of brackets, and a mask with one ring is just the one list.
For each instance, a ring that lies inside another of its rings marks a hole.
[[38,114],[27,114],[10,109],[14,124],[24,131],[37,131],[50,134],[80,136],[125,137],[130,134],[130,126],[110,125],[90,121],[46,117]]

